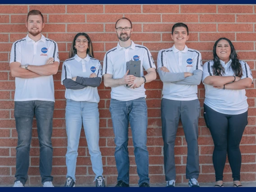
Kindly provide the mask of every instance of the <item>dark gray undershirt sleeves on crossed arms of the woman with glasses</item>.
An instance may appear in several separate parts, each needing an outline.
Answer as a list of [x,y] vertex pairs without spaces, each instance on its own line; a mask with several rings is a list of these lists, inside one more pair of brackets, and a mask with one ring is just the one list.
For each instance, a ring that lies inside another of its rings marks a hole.
[[99,87],[101,84],[101,78],[82,78],[77,77],[76,81],[73,81],[72,79],[64,79],[63,84],[66,87],[66,89],[83,89],[85,87]]

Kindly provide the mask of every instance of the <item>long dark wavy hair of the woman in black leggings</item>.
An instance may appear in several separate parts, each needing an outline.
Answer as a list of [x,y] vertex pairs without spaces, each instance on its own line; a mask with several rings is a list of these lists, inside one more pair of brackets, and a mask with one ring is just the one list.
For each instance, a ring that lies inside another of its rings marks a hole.
[[223,72],[223,74],[225,74],[225,69],[220,64],[219,57],[216,54],[216,46],[220,40],[226,40],[229,42],[229,46],[231,48],[230,59],[232,60],[230,67],[233,69],[235,75],[241,78],[242,77],[242,67],[239,62],[239,56],[237,55],[235,47],[233,46],[232,42],[225,37],[219,38],[213,46],[213,61],[214,61],[214,64],[212,66],[213,74],[218,75],[218,76],[222,76],[221,72]]

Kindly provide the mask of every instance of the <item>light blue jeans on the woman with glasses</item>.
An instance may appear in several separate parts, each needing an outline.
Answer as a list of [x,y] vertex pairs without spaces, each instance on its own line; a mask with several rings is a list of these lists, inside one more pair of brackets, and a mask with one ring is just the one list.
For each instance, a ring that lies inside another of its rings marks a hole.
[[[87,101],[73,101],[67,99],[66,105],[66,130],[68,136],[68,149],[66,153],[67,177],[74,180],[77,165],[78,145],[82,123],[87,140],[87,146],[91,155],[92,170],[98,176],[102,176],[103,165],[99,147],[99,110],[98,103]],[[86,173],[85,173],[86,174]]]

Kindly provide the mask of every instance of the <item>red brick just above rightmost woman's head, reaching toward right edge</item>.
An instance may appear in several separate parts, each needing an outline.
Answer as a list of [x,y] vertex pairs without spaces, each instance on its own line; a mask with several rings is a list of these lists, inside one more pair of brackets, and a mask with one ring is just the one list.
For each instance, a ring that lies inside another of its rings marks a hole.
[[230,24],[230,23],[225,23],[225,24],[218,24],[218,31],[219,32],[253,32],[253,24]]

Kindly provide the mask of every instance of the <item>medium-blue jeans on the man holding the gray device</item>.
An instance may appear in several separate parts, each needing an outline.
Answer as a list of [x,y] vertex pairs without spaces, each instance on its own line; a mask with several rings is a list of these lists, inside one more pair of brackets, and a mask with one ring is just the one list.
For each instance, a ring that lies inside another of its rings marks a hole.
[[128,156],[128,125],[130,122],[134,155],[139,175],[139,185],[149,183],[148,177],[148,151],[146,147],[147,106],[144,97],[119,101],[111,99],[110,113],[114,128],[115,161],[118,171],[117,181],[129,183],[129,156]]

